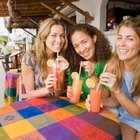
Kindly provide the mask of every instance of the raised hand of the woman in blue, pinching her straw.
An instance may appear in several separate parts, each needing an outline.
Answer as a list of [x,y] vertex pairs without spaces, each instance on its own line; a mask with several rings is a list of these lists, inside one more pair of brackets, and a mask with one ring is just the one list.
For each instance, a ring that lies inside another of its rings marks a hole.
[[100,76],[100,83],[108,86],[113,93],[117,93],[118,91],[120,91],[120,86],[118,84],[117,78],[112,73],[102,73]]

